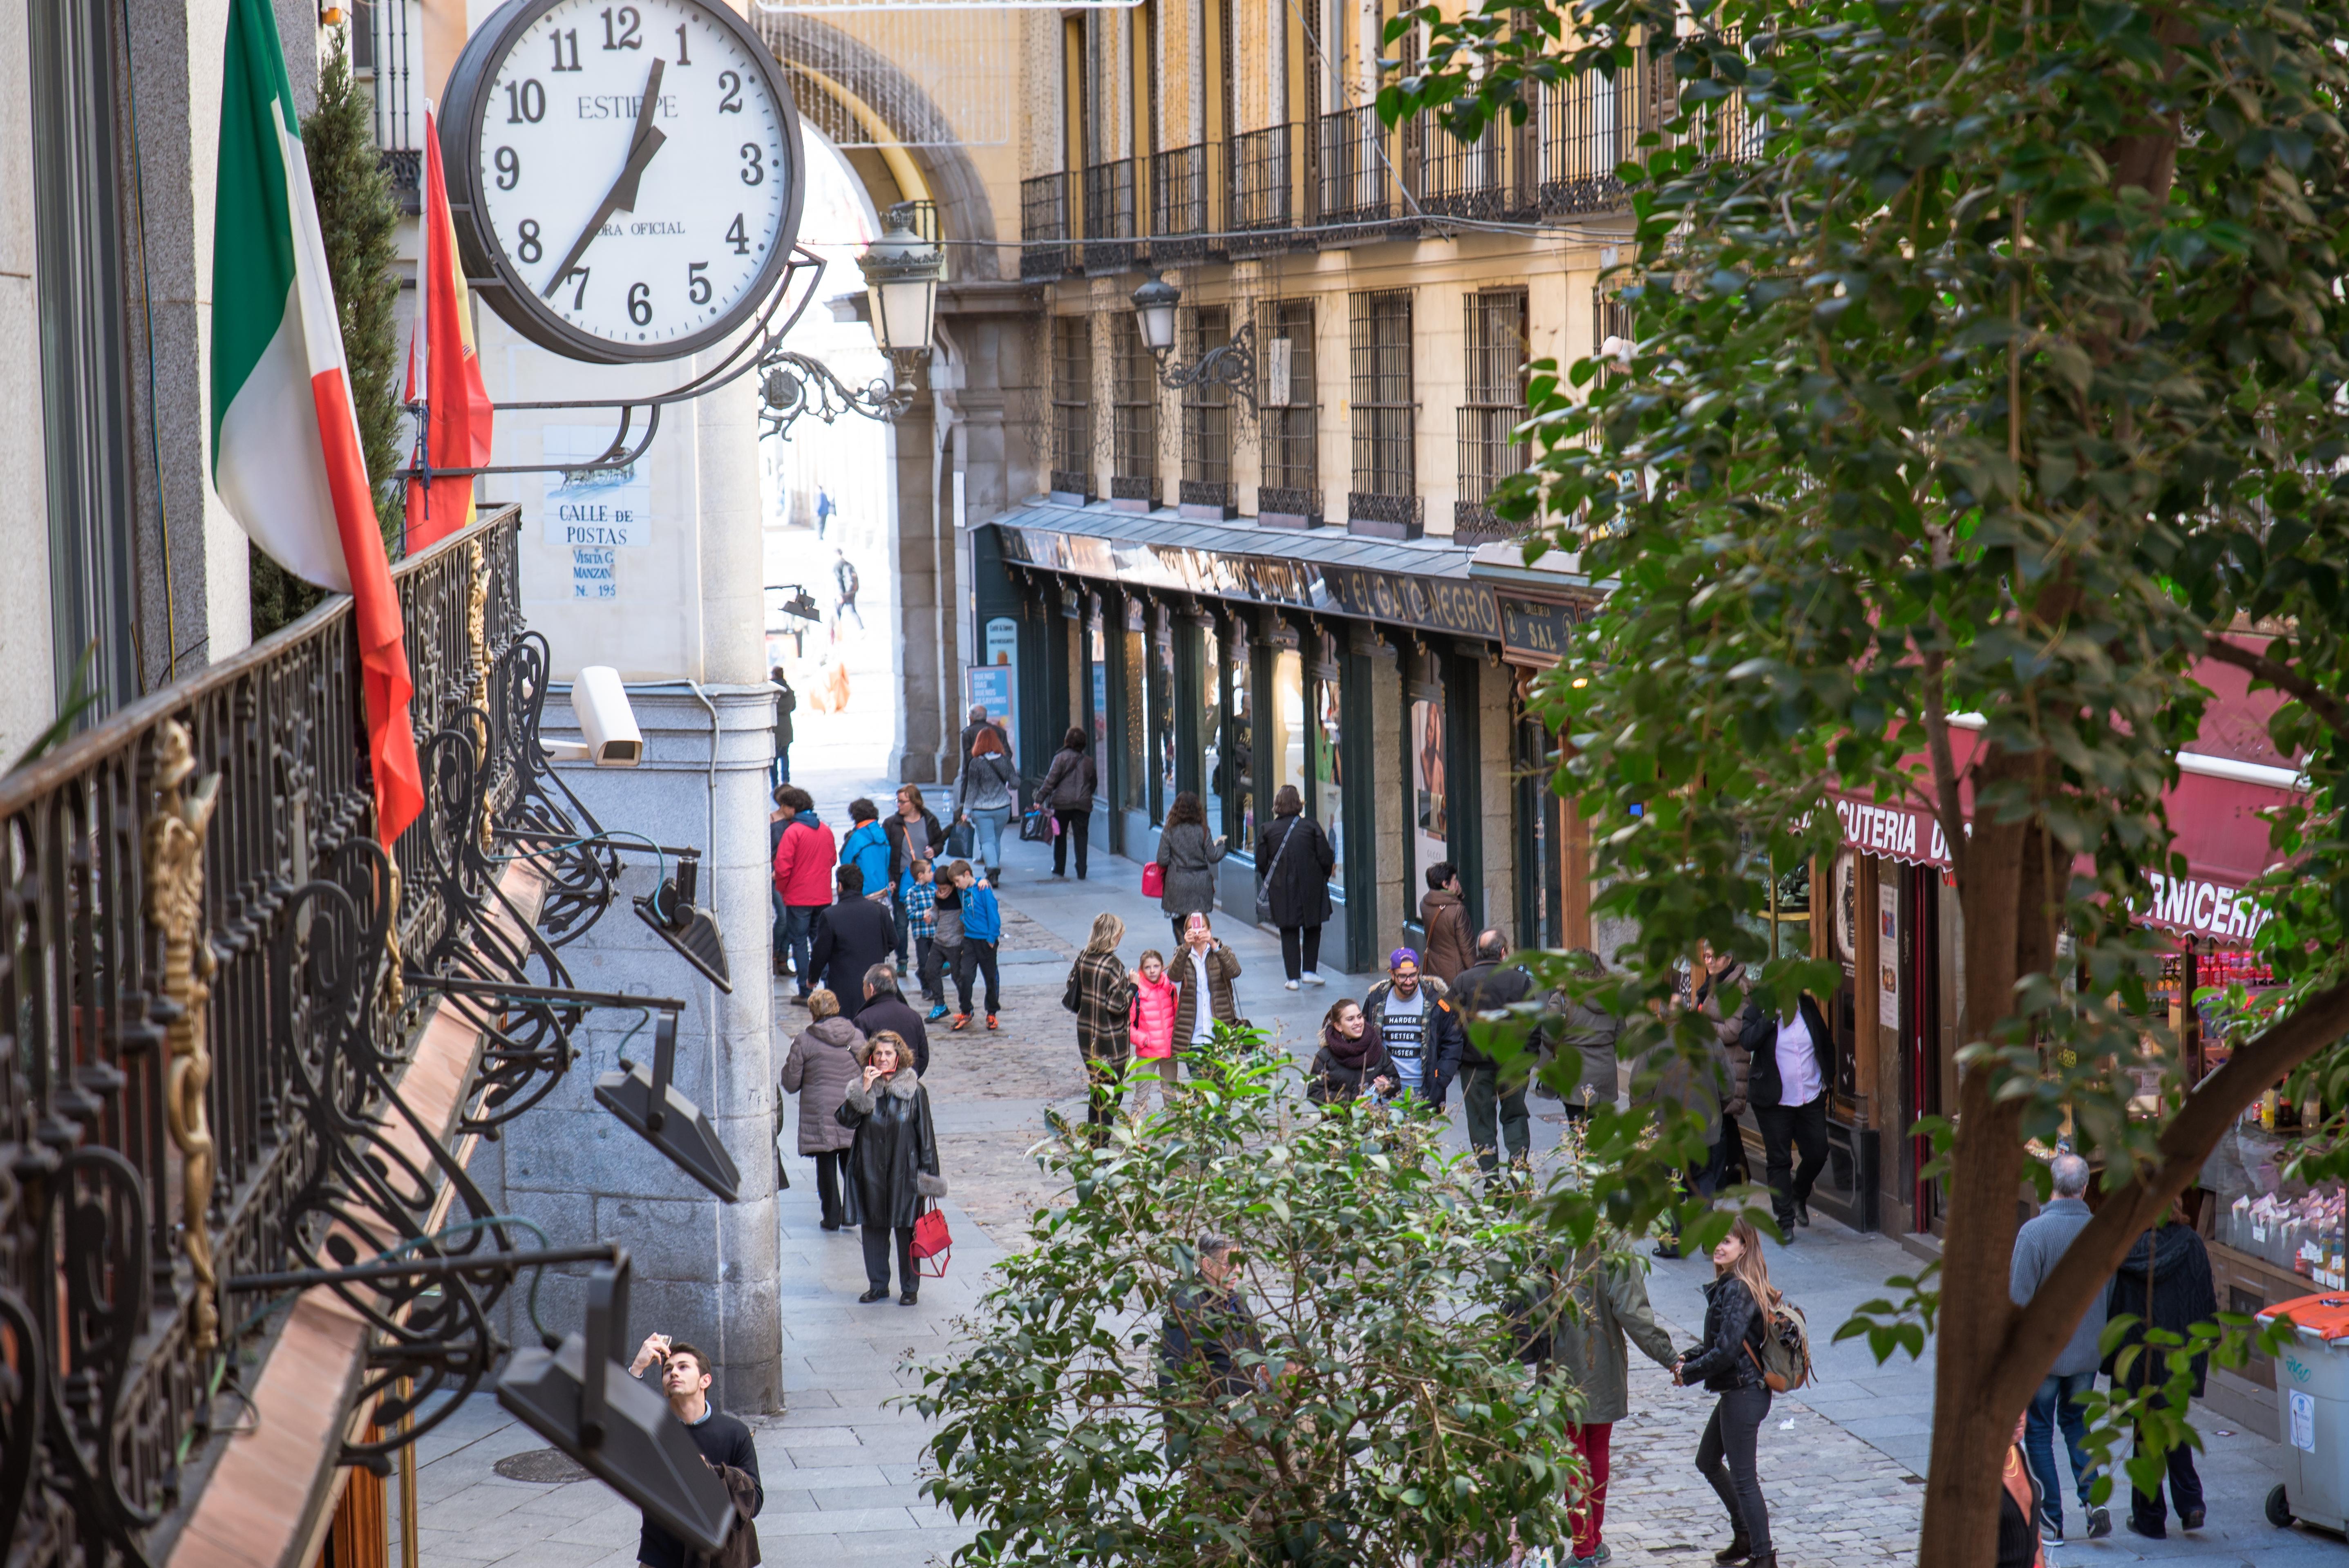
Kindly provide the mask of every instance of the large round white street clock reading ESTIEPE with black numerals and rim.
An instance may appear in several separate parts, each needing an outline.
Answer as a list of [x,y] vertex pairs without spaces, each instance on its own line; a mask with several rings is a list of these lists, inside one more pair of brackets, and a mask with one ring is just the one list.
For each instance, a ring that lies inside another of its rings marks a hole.
[[465,42],[439,136],[467,275],[571,359],[721,343],[799,237],[799,113],[716,0],[507,0]]

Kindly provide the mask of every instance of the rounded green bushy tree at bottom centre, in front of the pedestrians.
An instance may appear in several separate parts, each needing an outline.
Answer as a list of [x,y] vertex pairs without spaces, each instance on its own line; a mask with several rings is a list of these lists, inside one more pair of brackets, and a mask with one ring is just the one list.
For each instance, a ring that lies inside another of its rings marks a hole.
[[[1217,1084],[1041,1145],[1066,1204],[911,1399],[937,1422],[926,1491],[982,1526],[958,1561],[1402,1568],[1506,1556],[1510,1528],[1567,1542],[1576,1397],[1515,1359],[1567,1310],[1553,1239],[1435,1150],[1428,1113],[1325,1113],[1259,1045],[1219,1033]],[[1203,1232],[1243,1263],[1240,1394],[1198,1364],[1163,1378]]]

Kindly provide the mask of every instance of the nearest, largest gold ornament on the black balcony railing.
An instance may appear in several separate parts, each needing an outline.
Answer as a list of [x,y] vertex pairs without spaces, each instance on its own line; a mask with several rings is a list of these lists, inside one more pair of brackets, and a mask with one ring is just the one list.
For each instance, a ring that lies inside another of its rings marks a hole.
[[188,730],[164,721],[155,732],[155,810],[146,819],[141,847],[148,880],[148,922],[162,932],[162,993],[176,1007],[167,1030],[171,1047],[164,1080],[164,1117],[179,1148],[181,1246],[195,1270],[195,1329],[190,1343],[209,1354],[221,1343],[218,1277],[211,1268],[211,1122],[204,1091],[211,1084],[211,1047],[204,1038],[204,1005],[211,1000],[214,955],[204,937],[204,833],[221,803],[221,775],[193,789],[195,749]]

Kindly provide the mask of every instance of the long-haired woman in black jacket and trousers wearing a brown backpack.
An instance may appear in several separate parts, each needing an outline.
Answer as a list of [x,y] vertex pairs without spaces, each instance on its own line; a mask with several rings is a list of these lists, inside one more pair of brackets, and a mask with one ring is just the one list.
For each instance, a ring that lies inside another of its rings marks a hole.
[[1712,1420],[1696,1444],[1696,1472],[1729,1509],[1729,1547],[1717,1563],[1778,1568],[1769,1540],[1769,1505],[1762,1500],[1762,1472],[1755,1465],[1755,1441],[1769,1420],[1771,1392],[1762,1380],[1762,1345],[1769,1336],[1769,1310],[1778,1291],[1769,1284],[1762,1258],[1762,1232],[1743,1214],[1712,1249],[1712,1284],[1705,1286],[1705,1340],[1680,1357],[1672,1380],[1703,1383],[1712,1401]]

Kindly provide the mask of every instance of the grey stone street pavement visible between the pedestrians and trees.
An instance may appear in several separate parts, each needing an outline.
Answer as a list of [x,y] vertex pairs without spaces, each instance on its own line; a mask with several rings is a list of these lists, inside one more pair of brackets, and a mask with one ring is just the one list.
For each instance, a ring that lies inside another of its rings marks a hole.
[[[801,772],[827,815],[855,793],[888,798],[886,784]],[[984,1289],[989,1265],[1027,1242],[1027,1221],[1052,1199],[1029,1160],[1057,1108],[1083,1115],[1083,1073],[1059,1007],[1069,958],[1097,911],[1128,920],[1125,953],[1158,946],[1165,925],[1139,897],[1130,861],[1095,854],[1092,880],[1050,878],[1048,850],[1005,847],[1005,948],[1001,1033],[933,1035],[930,1091],[940,1155],[951,1183],[947,1218],[954,1265],[923,1289],[918,1307],[860,1307],[862,1261],[848,1235],[815,1225],[813,1162],[792,1164],[780,1199],[785,1390],[789,1408],[756,1418],[766,1512],[759,1537],[770,1563],[829,1568],[921,1568],[970,1537],[918,1493],[923,1422],[888,1399],[916,1380],[907,1357],[942,1354],[954,1319]],[[1362,979],[1332,976],[1327,991],[1278,986],[1278,946],[1233,925],[1226,941],[1243,960],[1243,1009],[1294,1052],[1313,1038],[1322,1009],[1360,995]],[[778,998],[778,1049],[806,1014]],[[1539,1103],[1536,1103],[1539,1106]],[[1536,1117],[1536,1150],[1557,1141]],[[1818,1331],[1820,1378],[1771,1411],[1762,1441],[1762,1486],[1781,1563],[1844,1568],[1914,1556],[1931,1434],[1933,1364],[1877,1366],[1858,1345],[1832,1345],[1832,1324],[1882,1293],[1893,1272],[1914,1270],[1896,1242],[1853,1235],[1820,1218],[1792,1249],[1771,1249],[1771,1272],[1804,1303]],[[1689,1343],[1703,1322],[1703,1261],[1656,1263],[1649,1293],[1672,1338]],[[1607,1540],[1614,1563],[1698,1568],[1712,1561],[1727,1521],[1696,1474],[1694,1453],[1710,1397],[1677,1390],[1661,1368],[1633,1368],[1633,1413],[1614,1432]],[[2145,1542],[2116,1533],[2051,1552],[2055,1568],[2161,1561],[2173,1568],[2349,1568],[2349,1547],[2304,1530],[2271,1530],[2260,1502],[2274,1483],[2276,1446],[2225,1434],[2203,1418],[2203,1479],[2210,1528],[2194,1537]],[[540,1448],[477,1397],[420,1444],[420,1556],[428,1563],[498,1568],[625,1568],[634,1563],[637,1514],[599,1481],[533,1483],[496,1472],[496,1460]],[[2072,1512],[2077,1528],[2079,1514]]]

